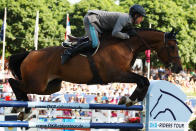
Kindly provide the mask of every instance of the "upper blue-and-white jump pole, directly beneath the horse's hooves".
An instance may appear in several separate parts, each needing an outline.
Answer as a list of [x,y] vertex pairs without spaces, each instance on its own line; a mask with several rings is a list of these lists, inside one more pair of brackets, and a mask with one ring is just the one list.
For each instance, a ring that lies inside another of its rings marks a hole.
[[0,101],[0,107],[29,107],[29,108],[58,108],[58,109],[102,109],[102,110],[137,110],[142,111],[142,105],[115,104],[79,104],[79,103],[55,103],[55,102],[26,102],[26,101]]

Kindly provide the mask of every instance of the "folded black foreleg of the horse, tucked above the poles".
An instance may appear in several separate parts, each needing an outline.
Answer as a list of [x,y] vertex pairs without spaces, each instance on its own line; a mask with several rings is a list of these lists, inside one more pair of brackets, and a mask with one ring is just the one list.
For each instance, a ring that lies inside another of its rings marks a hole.
[[129,72],[122,75],[122,82],[136,83],[137,87],[130,97],[121,97],[118,103],[119,105],[126,104],[126,106],[131,106],[144,100],[150,85],[149,80],[146,77]]

